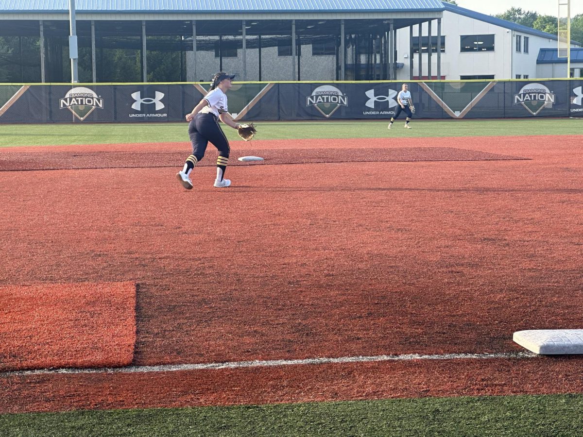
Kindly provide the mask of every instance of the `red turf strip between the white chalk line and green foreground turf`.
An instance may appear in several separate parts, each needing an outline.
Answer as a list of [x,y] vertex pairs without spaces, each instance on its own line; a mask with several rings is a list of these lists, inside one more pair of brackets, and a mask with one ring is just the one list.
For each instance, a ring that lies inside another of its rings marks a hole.
[[582,370],[573,357],[20,375],[0,380],[0,413],[583,393]]

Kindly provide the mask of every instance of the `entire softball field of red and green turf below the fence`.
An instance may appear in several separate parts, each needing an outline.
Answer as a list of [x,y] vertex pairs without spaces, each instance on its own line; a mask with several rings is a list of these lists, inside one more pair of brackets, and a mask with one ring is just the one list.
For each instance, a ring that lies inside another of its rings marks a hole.
[[583,435],[583,121],[412,126],[1,126],[0,435]]

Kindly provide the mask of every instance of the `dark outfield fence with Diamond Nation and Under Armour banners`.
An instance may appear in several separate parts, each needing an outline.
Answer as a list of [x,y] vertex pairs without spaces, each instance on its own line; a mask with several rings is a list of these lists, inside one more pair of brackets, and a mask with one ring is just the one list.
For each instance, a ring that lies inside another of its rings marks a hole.
[[[176,122],[207,83],[4,84],[0,123]],[[229,91],[236,119],[386,119],[401,82],[244,82]],[[583,117],[583,80],[409,82],[416,118]]]

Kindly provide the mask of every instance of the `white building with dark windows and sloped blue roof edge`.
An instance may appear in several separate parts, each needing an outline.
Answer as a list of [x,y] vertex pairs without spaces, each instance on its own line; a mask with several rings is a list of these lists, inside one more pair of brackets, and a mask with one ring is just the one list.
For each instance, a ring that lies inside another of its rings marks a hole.
[[[444,2],[441,19],[441,79],[534,79],[566,77],[566,66],[538,68],[539,51],[557,49],[557,36]],[[419,25],[413,26],[413,79],[429,73],[428,26],[422,24],[422,73],[419,75]],[[437,26],[433,23],[431,78],[437,77]],[[574,43],[574,41],[571,41]],[[409,79],[409,28],[397,31],[399,80]],[[571,44],[571,47],[578,45]],[[575,74],[577,71],[574,72]]]

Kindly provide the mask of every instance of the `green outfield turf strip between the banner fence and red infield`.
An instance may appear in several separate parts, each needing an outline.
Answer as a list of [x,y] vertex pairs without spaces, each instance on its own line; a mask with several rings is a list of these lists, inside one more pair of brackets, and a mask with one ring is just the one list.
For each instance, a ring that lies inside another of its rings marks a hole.
[[[387,120],[258,122],[256,139],[402,138],[437,136],[581,135],[583,118],[511,120],[413,120],[403,129],[399,119],[391,131]],[[157,124],[0,124],[0,147],[71,144],[188,142],[187,123]],[[225,127],[229,140],[239,139]]]

